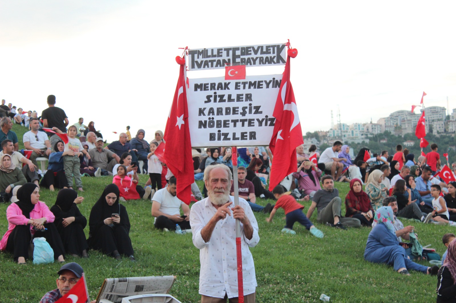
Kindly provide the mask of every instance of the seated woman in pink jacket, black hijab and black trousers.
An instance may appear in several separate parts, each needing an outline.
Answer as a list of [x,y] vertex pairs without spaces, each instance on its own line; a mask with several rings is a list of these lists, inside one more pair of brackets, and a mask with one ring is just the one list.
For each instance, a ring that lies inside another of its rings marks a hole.
[[17,191],[16,203],[6,209],[8,231],[0,241],[0,250],[13,253],[14,261],[26,264],[28,247],[33,237],[45,237],[54,251],[54,259],[65,262],[62,240],[57,232],[54,214],[44,202],[39,201],[38,186],[26,183]]

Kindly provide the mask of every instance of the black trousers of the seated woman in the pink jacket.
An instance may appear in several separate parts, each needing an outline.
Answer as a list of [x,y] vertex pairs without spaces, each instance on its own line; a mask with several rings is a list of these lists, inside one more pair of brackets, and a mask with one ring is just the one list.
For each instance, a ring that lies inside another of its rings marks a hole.
[[[47,228],[44,232],[36,231],[34,237],[44,237],[46,242],[49,243],[52,250],[54,251],[54,260],[57,260],[58,256],[65,255],[65,249],[63,248],[62,239],[60,238],[57,228],[54,223],[46,223],[44,227]],[[16,225],[13,231],[8,237],[6,242],[6,250],[13,253],[14,261],[17,262],[17,258],[24,257],[29,258],[28,248],[31,242],[30,224],[28,225]]]

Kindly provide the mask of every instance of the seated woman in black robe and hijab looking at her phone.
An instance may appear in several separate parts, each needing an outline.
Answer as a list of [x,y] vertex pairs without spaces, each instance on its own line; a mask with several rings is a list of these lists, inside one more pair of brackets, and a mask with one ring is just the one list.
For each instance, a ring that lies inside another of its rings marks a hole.
[[101,197],[92,207],[88,226],[90,248],[110,254],[117,260],[120,260],[120,255],[125,255],[130,257],[131,261],[135,261],[128,235],[130,220],[125,207],[119,204],[117,185],[109,184],[104,188]]

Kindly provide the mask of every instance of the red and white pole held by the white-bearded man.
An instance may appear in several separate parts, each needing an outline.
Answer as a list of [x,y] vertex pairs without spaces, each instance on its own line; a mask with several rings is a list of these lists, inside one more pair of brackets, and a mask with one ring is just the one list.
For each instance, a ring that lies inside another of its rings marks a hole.
[[[238,149],[231,147],[231,162],[233,162],[233,185],[234,185],[234,206],[239,205],[238,185]],[[236,257],[238,260],[238,302],[244,303],[244,281],[242,278],[242,253],[241,253],[241,226],[239,219],[236,219]]]

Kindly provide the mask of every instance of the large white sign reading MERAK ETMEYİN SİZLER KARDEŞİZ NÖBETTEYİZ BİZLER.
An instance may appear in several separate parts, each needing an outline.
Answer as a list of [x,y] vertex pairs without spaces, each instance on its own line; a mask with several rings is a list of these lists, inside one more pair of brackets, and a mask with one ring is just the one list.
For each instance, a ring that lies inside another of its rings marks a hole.
[[192,147],[269,145],[282,75],[189,79]]

